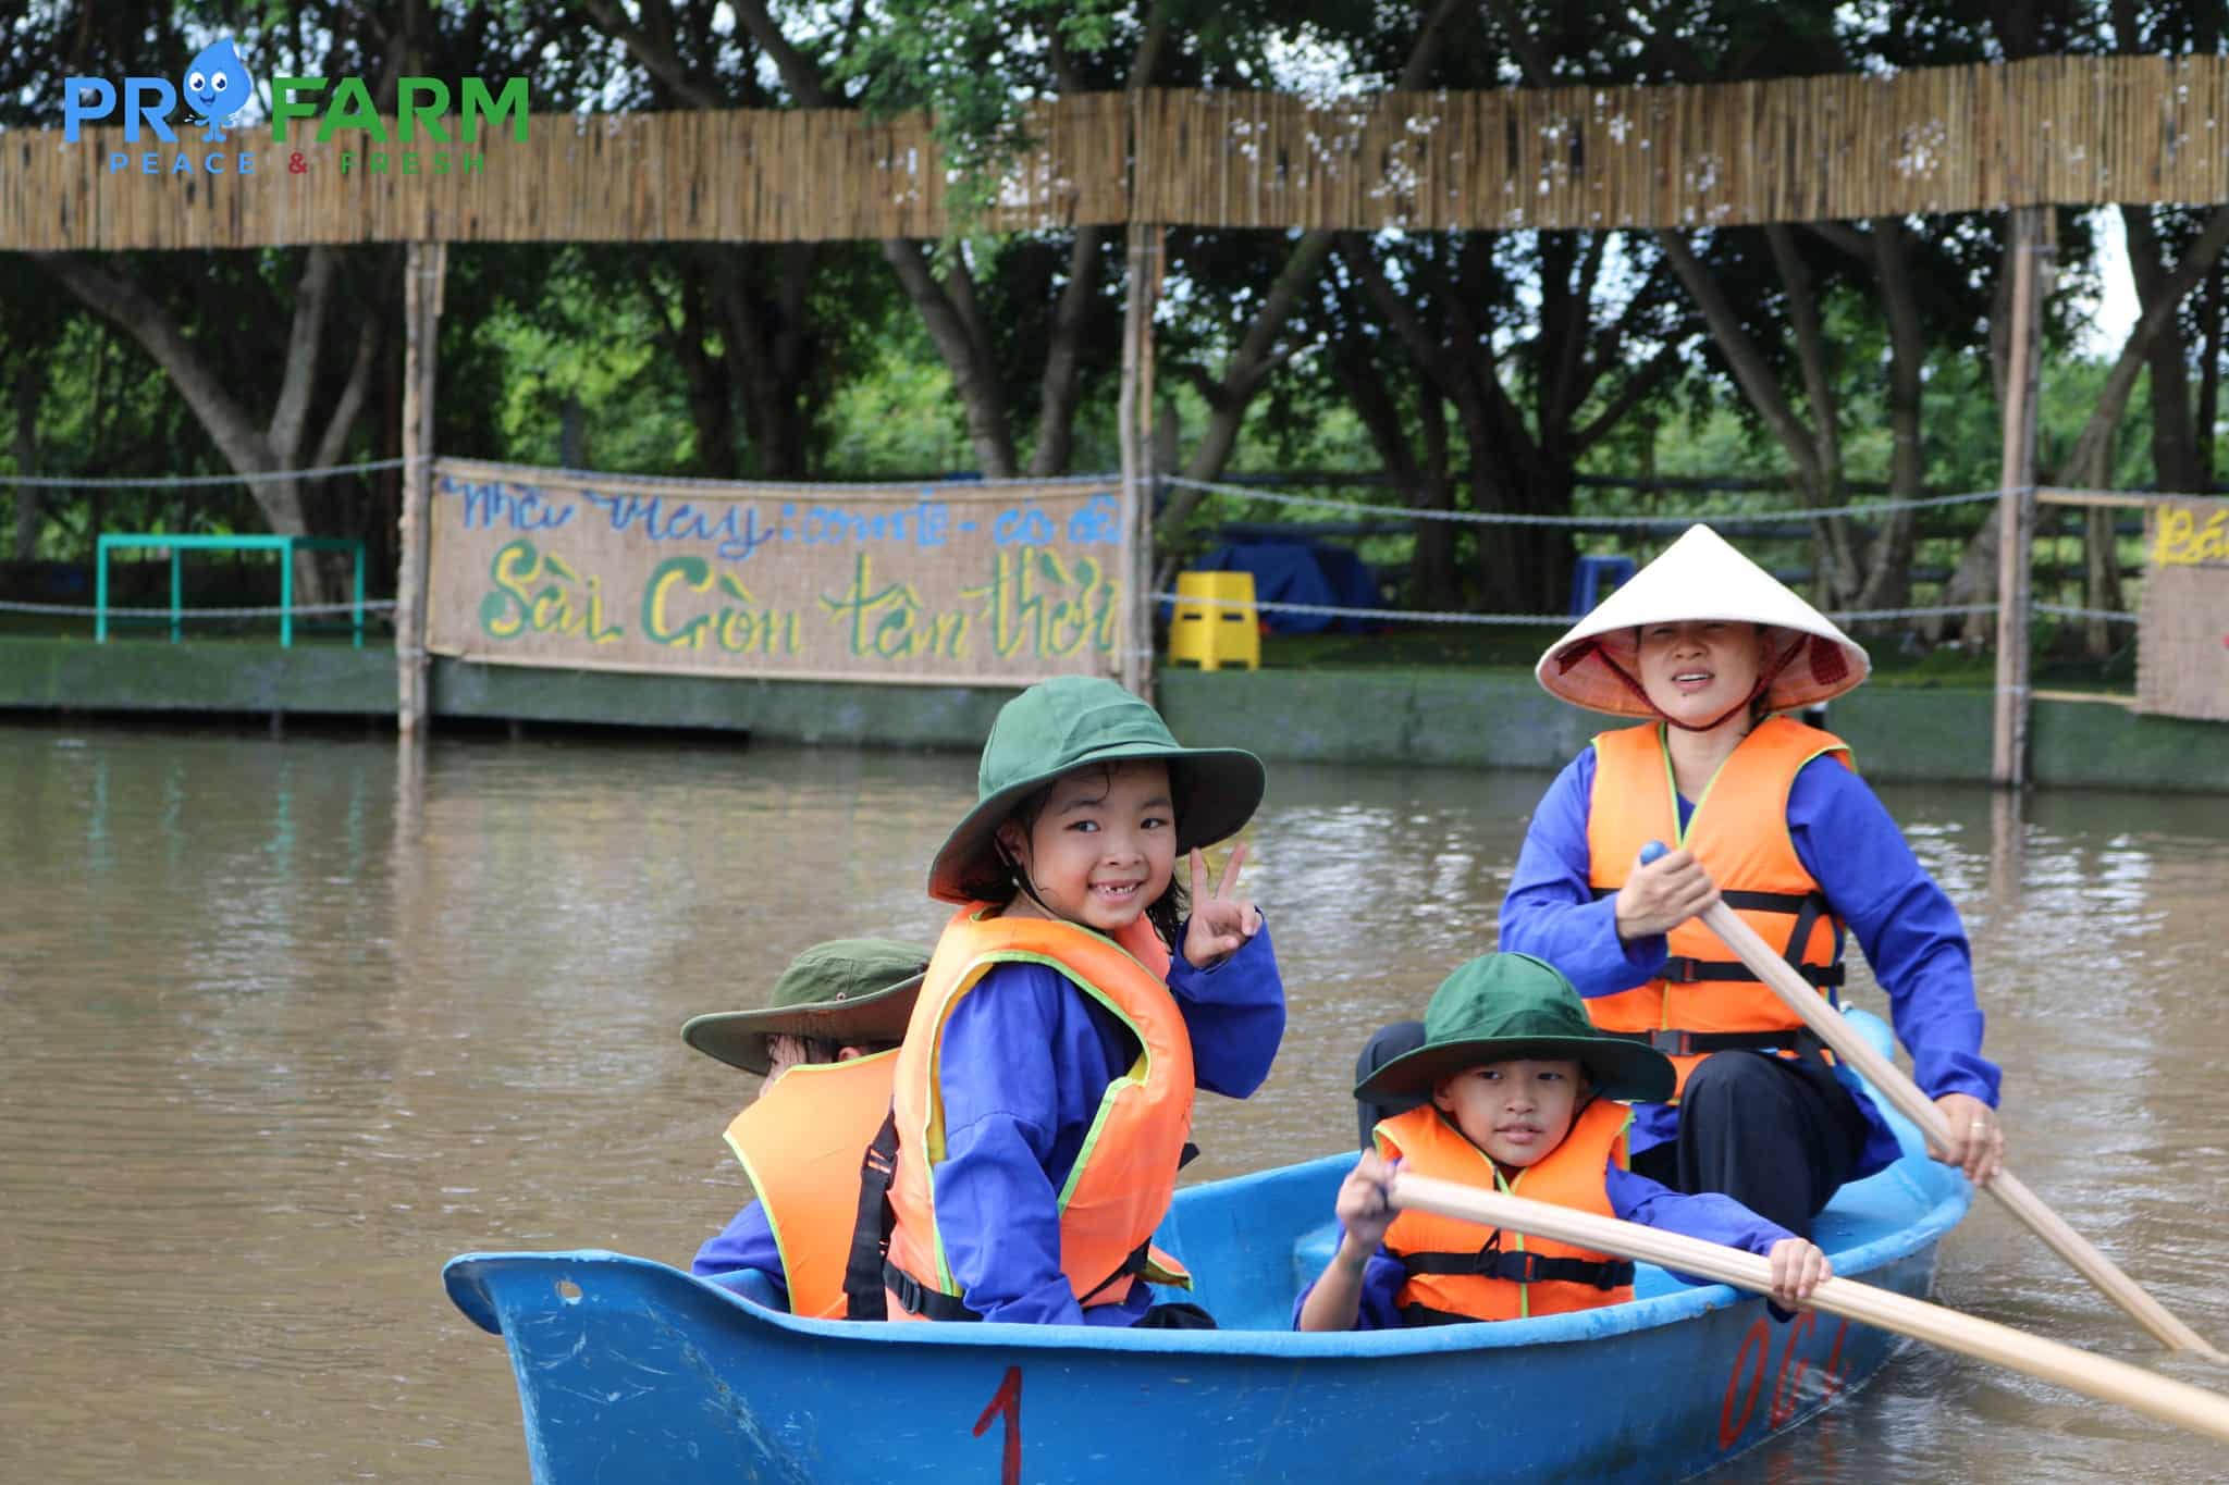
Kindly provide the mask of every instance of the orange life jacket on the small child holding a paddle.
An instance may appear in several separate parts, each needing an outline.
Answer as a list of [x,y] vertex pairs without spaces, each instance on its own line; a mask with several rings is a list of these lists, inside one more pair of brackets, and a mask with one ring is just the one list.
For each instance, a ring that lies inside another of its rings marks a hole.
[[[1429,1102],[1380,1122],[1373,1138],[1380,1153],[1400,1160],[1404,1171],[1607,1218],[1614,1213],[1603,1171],[1612,1160],[1625,1169],[1625,1127],[1632,1118],[1625,1104],[1596,1098],[1571,1120],[1563,1142],[1518,1171],[1516,1180],[1505,1180],[1493,1160]],[[1498,1227],[1480,1245],[1476,1222],[1429,1211],[1404,1209],[1393,1218],[1386,1251],[1409,1271],[1395,1296],[1409,1325],[1560,1316],[1634,1298],[1632,1262],[1522,1233],[1509,1233],[1505,1247]]]

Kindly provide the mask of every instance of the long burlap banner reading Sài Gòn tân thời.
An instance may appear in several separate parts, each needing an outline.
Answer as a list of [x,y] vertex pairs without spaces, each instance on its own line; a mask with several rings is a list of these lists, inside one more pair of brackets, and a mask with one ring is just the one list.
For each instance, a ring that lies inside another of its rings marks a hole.
[[1112,479],[731,485],[435,465],[437,655],[1025,686],[1112,675]]

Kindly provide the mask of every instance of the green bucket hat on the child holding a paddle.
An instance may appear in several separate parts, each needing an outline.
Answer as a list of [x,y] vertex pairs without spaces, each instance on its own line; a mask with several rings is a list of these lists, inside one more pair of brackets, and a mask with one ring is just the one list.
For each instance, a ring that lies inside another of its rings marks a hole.
[[1355,1084],[1355,1098],[1429,1093],[1480,1062],[1574,1058],[1603,1098],[1672,1098],[1672,1060],[1596,1031],[1563,971],[1529,953],[1489,953],[1440,982],[1424,1006],[1424,1044]]

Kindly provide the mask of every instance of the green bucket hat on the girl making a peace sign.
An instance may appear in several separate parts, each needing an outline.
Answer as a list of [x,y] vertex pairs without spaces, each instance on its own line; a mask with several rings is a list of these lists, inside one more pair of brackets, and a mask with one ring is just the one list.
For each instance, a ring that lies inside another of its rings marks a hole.
[[1177,850],[1237,835],[1262,804],[1262,759],[1239,748],[1179,748],[1161,712],[1114,681],[1063,675],[999,708],[976,768],[976,806],[929,862],[929,897],[970,902],[1005,875],[996,833],[1014,806],[1083,764],[1164,759],[1177,806]]

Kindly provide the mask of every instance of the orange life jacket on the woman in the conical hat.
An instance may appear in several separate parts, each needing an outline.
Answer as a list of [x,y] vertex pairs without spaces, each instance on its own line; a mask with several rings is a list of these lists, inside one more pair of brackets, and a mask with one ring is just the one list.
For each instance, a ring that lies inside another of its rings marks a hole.
[[[1687,846],[1725,906],[1768,944],[1779,944],[1834,1004],[1843,977],[1834,957],[1841,919],[1788,835],[1788,790],[1797,770],[1819,755],[1855,768],[1850,746],[1832,732],[1768,717],[1719,766],[1681,830],[1663,724],[1603,732],[1594,739],[1594,799],[1587,806],[1596,897],[1625,886],[1647,842]],[[1774,1046],[1783,1055],[1797,1055],[1799,1046],[1817,1051],[1810,1033],[1797,1035],[1801,1017],[1734,960],[1703,919],[1690,917],[1670,933],[1670,955],[1663,975],[1616,995],[1594,995],[1587,1013],[1603,1031],[1649,1033],[1649,1044],[1672,1058],[1678,1089],[1705,1055],[1725,1046]]]

